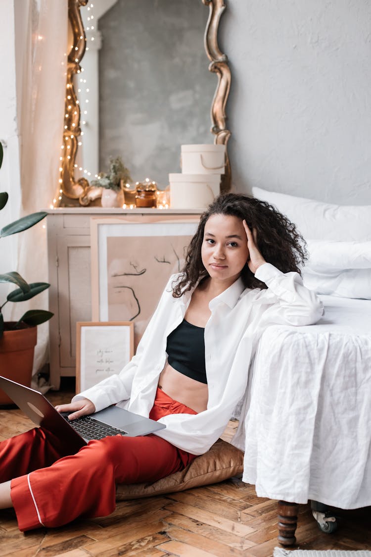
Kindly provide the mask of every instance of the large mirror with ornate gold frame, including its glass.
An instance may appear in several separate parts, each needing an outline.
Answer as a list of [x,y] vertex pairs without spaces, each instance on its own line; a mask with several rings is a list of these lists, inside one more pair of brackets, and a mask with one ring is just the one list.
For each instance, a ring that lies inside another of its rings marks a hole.
[[[60,204],[100,197],[89,182],[107,170],[110,156],[121,155],[133,181],[149,177],[163,189],[169,172],[181,172],[181,144],[227,143],[230,71],[217,46],[224,9],[222,0],[69,0]],[[206,55],[217,74],[215,94]],[[221,189],[229,188],[227,160]]]

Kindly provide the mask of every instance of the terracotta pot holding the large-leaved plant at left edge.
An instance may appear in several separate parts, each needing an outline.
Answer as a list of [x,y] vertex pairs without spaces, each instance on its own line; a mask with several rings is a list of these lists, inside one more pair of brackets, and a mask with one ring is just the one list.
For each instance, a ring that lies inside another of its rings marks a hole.
[[[31,385],[33,353],[37,343],[37,327],[24,326],[16,331],[4,331],[0,338],[0,375]],[[0,389],[0,405],[13,401]]]

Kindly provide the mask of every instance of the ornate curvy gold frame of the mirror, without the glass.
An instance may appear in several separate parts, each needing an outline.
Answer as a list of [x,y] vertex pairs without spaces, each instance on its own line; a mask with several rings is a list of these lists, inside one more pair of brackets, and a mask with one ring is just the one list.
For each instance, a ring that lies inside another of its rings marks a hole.
[[[86,178],[75,178],[76,155],[80,129],[80,106],[77,99],[74,76],[81,72],[81,60],[85,53],[86,36],[82,23],[80,8],[86,6],[88,0],[68,0],[68,19],[72,30],[71,51],[67,62],[65,124],[63,145],[60,157],[59,194],[55,198],[54,206],[65,205],[68,200],[87,206],[91,201],[101,197],[102,188],[91,186]],[[229,95],[231,73],[227,56],[222,53],[217,44],[217,32],[220,17],[226,8],[224,0],[202,0],[209,6],[209,18],[206,24],[204,45],[210,60],[209,70],[217,75],[217,86],[211,104],[211,133],[215,135],[214,143],[226,146],[226,167],[222,176],[221,191],[230,190],[231,169],[227,154],[227,141],[230,131],[226,128],[225,106]],[[66,199],[67,198],[67,199]],[[78,200],[78,201],[77,201]]]

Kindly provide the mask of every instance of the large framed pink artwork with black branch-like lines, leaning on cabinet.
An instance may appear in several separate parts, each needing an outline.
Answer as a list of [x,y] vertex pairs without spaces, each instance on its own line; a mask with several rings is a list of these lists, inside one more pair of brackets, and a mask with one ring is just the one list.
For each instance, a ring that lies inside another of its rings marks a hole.
[[136,349],[198,222],[194,214],[91,218],[92,319],[133,322]]

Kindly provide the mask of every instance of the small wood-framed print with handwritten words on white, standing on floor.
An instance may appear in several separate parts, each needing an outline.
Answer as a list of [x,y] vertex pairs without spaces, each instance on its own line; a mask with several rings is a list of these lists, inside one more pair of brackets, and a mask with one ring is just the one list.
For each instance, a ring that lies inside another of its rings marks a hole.
[[120,373],[133,354],[134,325],[131,321],[78,321],[76,392]]

